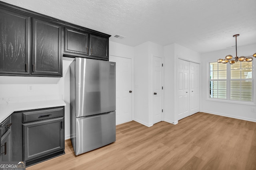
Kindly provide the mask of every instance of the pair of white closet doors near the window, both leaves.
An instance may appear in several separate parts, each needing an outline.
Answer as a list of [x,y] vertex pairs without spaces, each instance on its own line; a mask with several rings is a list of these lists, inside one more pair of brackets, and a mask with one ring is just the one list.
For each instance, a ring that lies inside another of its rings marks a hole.
[[199,111],[200,64],[178,59],[178,120]]

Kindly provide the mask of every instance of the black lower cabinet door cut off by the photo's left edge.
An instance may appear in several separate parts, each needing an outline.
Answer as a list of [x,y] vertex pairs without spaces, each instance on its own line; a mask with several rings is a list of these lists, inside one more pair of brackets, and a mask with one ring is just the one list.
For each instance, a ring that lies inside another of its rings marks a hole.
[[9,129],[1,139],[1,162],[11,161],[11,130]]

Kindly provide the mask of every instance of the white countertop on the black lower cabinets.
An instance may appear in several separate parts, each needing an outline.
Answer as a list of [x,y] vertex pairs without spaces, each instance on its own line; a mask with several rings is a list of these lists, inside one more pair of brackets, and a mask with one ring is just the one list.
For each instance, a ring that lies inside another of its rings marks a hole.
[[66,103],[63,100],[45,100],[35,102],[0,104],[0,123],[4,121],[8,116],[10,116],[14,111],[42,109],[58,106],[66,106]]

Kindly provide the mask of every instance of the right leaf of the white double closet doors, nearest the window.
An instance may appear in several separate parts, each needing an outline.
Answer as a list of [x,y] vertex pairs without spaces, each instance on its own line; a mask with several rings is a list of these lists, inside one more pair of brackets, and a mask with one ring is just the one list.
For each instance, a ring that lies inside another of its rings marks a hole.
[[192,115],[199,111],[199,81],[200,64],[190,62],[190,113]]

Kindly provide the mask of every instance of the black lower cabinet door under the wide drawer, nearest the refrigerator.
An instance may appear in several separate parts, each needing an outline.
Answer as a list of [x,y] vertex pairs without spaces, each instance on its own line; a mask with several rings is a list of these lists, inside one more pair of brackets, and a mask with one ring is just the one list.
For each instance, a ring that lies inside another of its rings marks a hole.
[[64,117],[23,124],[24,161],[64,149]]

